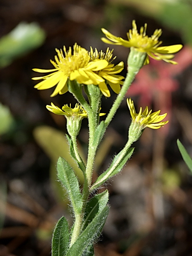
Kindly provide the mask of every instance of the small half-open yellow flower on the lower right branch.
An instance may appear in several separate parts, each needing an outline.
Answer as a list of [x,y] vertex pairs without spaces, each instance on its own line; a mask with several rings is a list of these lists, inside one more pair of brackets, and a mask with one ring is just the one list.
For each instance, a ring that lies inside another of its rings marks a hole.
[[138,123],[142,129],[149,127],[152,129],[159,129],[169,121],[161,122],[167,115],[167,113],[163,115],[159,115],[160,110],[154,113],[151,113],[152,110],[148,111],[148,107],[142,112],[142,108],[140,108],[140,112],[137,114],[134,107],[134,102],[130,99],[127,99],[128,108],[131,113],[132,122]]

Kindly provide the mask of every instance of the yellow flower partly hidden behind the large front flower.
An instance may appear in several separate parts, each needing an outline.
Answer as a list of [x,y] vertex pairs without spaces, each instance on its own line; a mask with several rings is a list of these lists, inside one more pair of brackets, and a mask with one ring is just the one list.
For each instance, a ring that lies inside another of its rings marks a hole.
[[98,76],[104,79],[104,81],[100,81],[98,84],[103,95],[105,97],[111,96],[110,91],[106,84],[109,84],[111,89],[118,94],[121,90],[120,84],[123,84],[121,80],[124,79],[124,77],[116,74],[123,70],[124,63],[121,61],[116,66],[112,64],[112,61],[116,57],[114,57],[111,60],[113,56],[113,49],[110,51],[109,48],[107,48],[107,51],[105,53],[102,50],[98,52],[96,48],[95,48],[95,52],[93,52],[92,47],[90,47],[89,55],[90,55],[91,61],[99,61],[99,60],[108,61],[108,65],[106,67],[103,67],[101,70],[96,72]]

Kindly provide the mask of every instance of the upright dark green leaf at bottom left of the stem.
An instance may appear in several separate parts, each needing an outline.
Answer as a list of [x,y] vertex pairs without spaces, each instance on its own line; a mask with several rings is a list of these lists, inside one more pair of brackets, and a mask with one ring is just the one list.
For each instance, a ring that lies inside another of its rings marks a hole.
[[52,236],[52,256],[64,256],[70,244],[69,227],[63,216],[55,226]]

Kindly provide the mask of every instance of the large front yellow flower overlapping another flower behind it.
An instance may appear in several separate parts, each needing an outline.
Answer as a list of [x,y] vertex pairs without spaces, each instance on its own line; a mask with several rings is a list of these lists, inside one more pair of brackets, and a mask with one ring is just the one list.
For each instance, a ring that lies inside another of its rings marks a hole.
[[[67,80],[75,80],[80,84],[99,84],[104,81],[98,76],[95,71],[102,70],[108,66],[108,61],[98,60],[90,61],[90,57],[86,49],[74,44],[73,54],[72,49],[69,47],[67,51],[64,46],[64,53],[60,49],[55,49],[57,55],[55,55],[55,61],[50,60],[55,69],[42,70],[33,69],[35,72],[49,73],[47,76],[34,77],[33,80],[43,79],[40,83],[35,85],[38,90],[49,89],[56,85],[51,97],[56,96],[58,93],[63,94],[68,91]],[[65,56],[64,56],[65,55]]]

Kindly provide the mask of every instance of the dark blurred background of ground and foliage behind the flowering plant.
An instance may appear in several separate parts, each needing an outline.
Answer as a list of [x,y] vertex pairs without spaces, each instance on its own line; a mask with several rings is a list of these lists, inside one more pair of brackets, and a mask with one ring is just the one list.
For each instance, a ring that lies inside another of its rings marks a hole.
[[[101,28],[126,39],[135,19],[150,36],[162,28],[163,45],[183,44],[178,65],[151,60],[127,97],[137,111],[148,105],[168,113],[160,130],[145,129],[122,173],[113,177],[110,214],[96,256],[192,256],[192,175],[177,138],[192,154],[192,0],[0,0],[0,256],[48,256],[58,218],[71,221],[55,163],[70,159],[66,121],[45,108],[76,103],[70,93],[33,88],[32,68],[51,69],[55,48],[75,42],[105,51]],[[113,46],[114,63],[129,49]],[[122,72],[125,76],[125,70]],[[102,99],[108,112],[116,95]],[[166,120],[167,120],[166,119]],[[130,114],[119,108],[98,150],[94,178],[126,143]],[[87,154],[87,120],[79,134]]]

